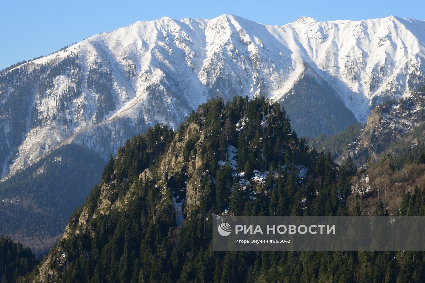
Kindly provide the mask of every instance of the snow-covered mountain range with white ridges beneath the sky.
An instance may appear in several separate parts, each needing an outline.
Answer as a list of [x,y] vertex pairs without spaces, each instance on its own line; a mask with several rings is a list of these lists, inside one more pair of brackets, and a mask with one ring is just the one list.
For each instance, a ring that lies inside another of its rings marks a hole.
[[2,176],[71,141],[109,155],[217,95],[284,100],[306,70],[365,122],[371,106],[425,81],[425,22],[163,17],[97,34],[1,74]]

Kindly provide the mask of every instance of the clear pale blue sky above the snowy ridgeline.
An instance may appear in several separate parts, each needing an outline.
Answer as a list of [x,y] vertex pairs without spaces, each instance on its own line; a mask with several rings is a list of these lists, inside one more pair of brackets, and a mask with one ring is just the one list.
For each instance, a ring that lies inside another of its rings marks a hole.
[[364,20],[389,15],[425,20],[425,1],[2,0],[0,69],[137,20],[163,16],[212,19],[222,14],[235,14],[270,25],[284,25],[300,16],[317,21]]

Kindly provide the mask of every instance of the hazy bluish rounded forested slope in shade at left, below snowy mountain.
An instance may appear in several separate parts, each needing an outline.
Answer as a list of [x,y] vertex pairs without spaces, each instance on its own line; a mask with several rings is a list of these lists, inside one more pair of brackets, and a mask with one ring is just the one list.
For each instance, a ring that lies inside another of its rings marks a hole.
[[107,161],[68,144],[0,182],[0,235],[10,235],[37,255],[60,237],[69,215],[99,181]]

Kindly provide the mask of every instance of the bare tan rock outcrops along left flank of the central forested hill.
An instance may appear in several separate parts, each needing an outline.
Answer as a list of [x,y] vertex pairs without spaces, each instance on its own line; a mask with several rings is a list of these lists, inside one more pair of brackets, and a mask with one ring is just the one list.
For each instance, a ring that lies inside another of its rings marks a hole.
[[[196,123],[188,124],[184,131],[178,132],[176,137],[172,141],[168,151],[164,154],[160,160],[158,166],[159,170],[151,172],[149,168],[145,169],[139,176],[139,179],[149,181],[155,180],[157,176],[160,176],[159,181],[156,182],[155,186],[159,189],[162,195],[161,203],[158,207],[170,204],[172,201],[172,194],[170,188],[167,185],[169,179],[176,174],[187,174],[189,182],[187,182],[187,188],[184,188],[186,198],[184,201],[184,207],[182,207],[184,213],[189,212],[191,209],[199,205],[199,201],[202,196],[202,192],[197,189],[199,184],[199,173],[196,173],[196,168],[202,165],[202,160],[196,154],[190,158],[190,161],[184,159],[184,149],[187,143],[191,143],[196,140],[193,147],[198,147],[205,140],[205,135],[210,132],[210,129],[200,131],[200,127]],[[122,155],[117,155],[117,160],[122,159]],[[111,189],[110,183],[104,183],[99,187],[99,201],[96,205],[95,210],[92,212],[89,207],[84,207],[82,212],[77,216],[76,224],[74,229],[70,229],[69,225],[65,228],[65,232],[62,235],[62,240],[66,240],[71,236],[83,233],[87,229],[91,229],[88,226],[89,219],[95,219],[99,215],[105,215],[111,213],[111,211],[120,211],[125,207],[129,198],[132,198],[136,194],[136,186],[133,183],[129,185],[126,196],[111,201],[111,195],[114,193]],[[59,263],[59,265],[65,264],[65,258],[62,255],[62,250],[53,248],[49,253],[48,258],[40,268],[40,275],[37,277],[39,282],[55,282],[58,279],[59,272],[49,268],[51,262]]]

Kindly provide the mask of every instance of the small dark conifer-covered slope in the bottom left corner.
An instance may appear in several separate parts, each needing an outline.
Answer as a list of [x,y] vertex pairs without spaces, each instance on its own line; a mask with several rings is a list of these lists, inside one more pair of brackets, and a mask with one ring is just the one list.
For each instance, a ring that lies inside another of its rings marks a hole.
[[0,237],[0,282],[16,282],[18,277],[31,272],[37,263],[30,248],[16,244],[8,237]]

